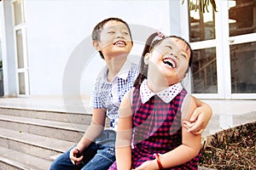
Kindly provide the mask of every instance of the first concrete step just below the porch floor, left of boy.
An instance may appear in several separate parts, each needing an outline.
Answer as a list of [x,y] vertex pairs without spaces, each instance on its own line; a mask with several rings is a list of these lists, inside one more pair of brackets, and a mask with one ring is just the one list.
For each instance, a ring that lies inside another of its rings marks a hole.
[[88,125],[0,115],[0,127],[41,136],[78,142]]

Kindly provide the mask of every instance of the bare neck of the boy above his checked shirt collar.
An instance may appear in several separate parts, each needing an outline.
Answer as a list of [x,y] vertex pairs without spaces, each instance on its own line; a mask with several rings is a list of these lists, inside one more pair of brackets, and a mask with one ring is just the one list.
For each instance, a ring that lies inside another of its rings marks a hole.
[[108,82],[112,82],[113,78],[117,76],[125,61],[127,56],[118,56],[112,59],[106,59],[108,66]]

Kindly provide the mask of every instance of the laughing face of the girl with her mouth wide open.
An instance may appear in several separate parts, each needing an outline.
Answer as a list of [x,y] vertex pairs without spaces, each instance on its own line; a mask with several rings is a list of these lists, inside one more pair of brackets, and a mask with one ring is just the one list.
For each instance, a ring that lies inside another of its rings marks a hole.
[[160,74],[168,84],[181,82],[189,66],[190,49],[177,37],[167,37],[156,45],[148,56],[148,76]]

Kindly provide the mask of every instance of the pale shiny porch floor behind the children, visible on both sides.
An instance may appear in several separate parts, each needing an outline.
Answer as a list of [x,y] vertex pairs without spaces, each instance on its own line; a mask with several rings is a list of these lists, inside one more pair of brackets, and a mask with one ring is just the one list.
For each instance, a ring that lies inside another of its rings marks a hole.
[[[63,99],[60,96],[0,98],[0,106],[40,111],[91,112],[88,97]],[[212,119],[203,136],[256,121],[256,100],[203,100],[212,107]]]

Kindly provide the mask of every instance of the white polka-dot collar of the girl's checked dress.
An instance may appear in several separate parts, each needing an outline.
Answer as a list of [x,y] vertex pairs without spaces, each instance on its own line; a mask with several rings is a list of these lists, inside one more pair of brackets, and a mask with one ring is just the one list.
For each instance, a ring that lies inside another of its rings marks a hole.
[[[160,99],[162,99],[165,103],[170,103],[170,101],[172,101],[172,99],[174,99],[177,96],[177,94],[179,94],[182,91],[182,89],[183,86],[181,85],[180,82],[178,82],[177,84],[173,84],[172,86],[156,93],[156,95],[158,95]],[[155,95],[155,93],[148,88],[147,80],[144,80],[141,85],[140,95],[143,104]]]

